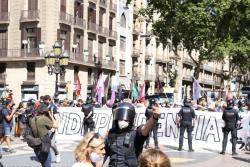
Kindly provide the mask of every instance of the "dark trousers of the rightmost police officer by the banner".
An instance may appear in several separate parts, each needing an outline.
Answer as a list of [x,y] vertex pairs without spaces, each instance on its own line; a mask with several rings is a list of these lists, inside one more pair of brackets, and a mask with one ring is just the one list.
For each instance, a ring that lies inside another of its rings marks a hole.
[[237,140],[237,129],[235,125],[226,125],[223,129],[223,141],[222,141],[222,152],[226,151],[228,134],[231,132],[232,136],[232,152],[236,153],[236,140]]

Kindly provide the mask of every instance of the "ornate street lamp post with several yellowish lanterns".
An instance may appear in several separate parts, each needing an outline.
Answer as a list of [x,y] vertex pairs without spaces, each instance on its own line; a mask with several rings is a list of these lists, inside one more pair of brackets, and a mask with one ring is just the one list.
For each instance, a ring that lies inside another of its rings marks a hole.
[[45,56],[45,64],[48,66],[49,75],[56,74],[54,98],[58,96],[58,75],[65,74],[65,66],[68,65],[68,62],[68,52],[62,50],[60,41],[56,41],[53,46],[53,51]]

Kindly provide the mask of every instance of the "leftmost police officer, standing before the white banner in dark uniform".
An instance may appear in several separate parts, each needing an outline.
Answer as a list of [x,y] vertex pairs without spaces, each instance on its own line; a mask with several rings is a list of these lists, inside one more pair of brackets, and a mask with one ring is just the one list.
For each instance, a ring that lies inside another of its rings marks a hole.
[[82,112],[84,113],[84,134],[88,133],[89,131],[93,131],[95,128],[95,122],[93,120],[93,108],[93,100],[90,96],[88,96],[85,104],[82,105]]

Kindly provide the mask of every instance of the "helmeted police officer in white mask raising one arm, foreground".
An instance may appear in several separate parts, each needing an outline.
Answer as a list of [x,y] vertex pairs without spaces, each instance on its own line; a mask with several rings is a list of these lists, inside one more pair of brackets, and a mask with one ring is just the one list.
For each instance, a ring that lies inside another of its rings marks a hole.
[[135,107],[131,103],[122,102],[114,110],[113,126],[105,141],[106,158],[109,167],[137,167],[138,156],[142,152],[149,132],[157,122],[159,106],[153,108],[153,114],[145,125],[134,127]]

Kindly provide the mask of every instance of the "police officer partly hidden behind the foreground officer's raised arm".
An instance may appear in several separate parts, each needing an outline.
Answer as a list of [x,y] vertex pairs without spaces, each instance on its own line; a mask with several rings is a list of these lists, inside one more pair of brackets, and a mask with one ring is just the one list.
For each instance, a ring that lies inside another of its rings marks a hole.
[[[153,112],[152,112],[153,111],[153,106],[155,105],[156,102],[157,102],[157,99],[155,99],[155,98],[149,99],[149,106],[147,107],[146,112],[145,112],[145,116],[146,116],[147,120],[149,120],[152,117],[152,115],[153,115]],[[157,121],[155,126],[152,129],[156,149],[159,149],[158,137],[157,137],[158,126],[159,126],[159,124],[158,124],[158,121]],[[152,131],[150,132],[150,134],[152,133]],[[149,135],[148,139],[146,140],[145,148],[148,148],[149,141],[150,141],[150,135]]]

